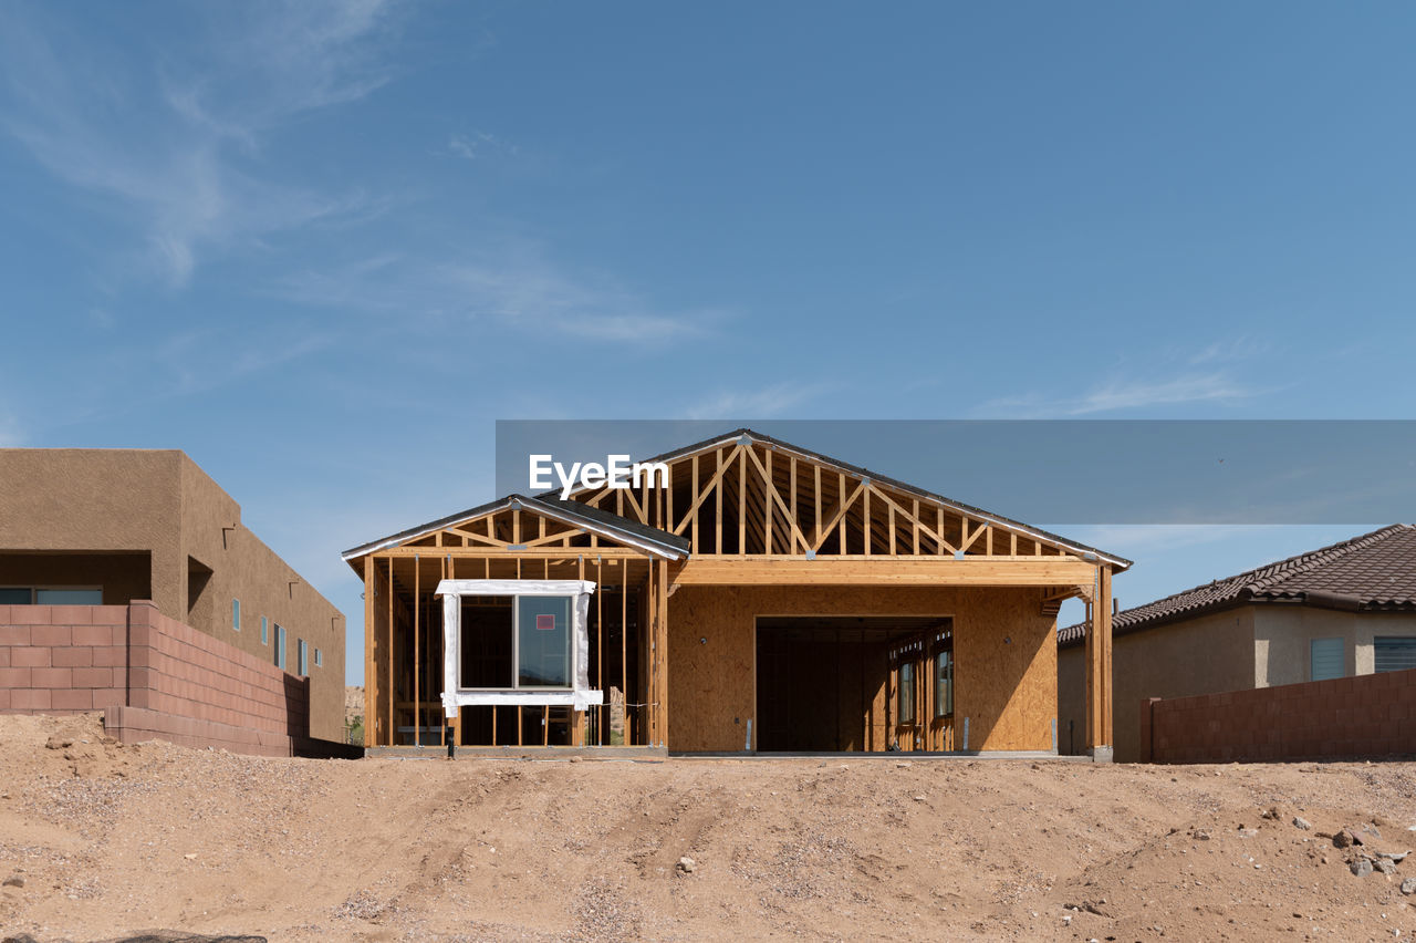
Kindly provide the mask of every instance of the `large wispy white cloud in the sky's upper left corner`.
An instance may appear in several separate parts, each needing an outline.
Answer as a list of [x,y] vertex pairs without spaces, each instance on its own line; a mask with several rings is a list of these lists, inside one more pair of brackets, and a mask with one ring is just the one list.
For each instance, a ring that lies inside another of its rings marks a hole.
[[205,24],[188,61],[164,50],[152,74],[125,71],[62,25],[21,20],[14,8],[0,17],[0,132],[57,178],[112,200],[174,285],[207,249],[367,204],[279,181],[256,156],[273,129],[387,81],[368,47],[384,4],[235,10]]

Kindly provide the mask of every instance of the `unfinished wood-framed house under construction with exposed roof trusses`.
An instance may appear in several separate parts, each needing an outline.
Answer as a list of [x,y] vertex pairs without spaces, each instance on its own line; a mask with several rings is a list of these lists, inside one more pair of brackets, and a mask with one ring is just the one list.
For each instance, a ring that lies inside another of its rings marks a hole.
[[746,429],[649,462],[344,554],[367,746],[1046,752],[1056,612],[1085,595],[1083,735],[1110,756],[1129,561]]

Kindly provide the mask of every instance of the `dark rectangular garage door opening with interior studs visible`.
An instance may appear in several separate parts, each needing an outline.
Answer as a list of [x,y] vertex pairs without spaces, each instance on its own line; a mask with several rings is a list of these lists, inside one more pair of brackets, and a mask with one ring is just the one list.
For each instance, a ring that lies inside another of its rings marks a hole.
[[947,750],[947,616],[758,619],[759,752]]

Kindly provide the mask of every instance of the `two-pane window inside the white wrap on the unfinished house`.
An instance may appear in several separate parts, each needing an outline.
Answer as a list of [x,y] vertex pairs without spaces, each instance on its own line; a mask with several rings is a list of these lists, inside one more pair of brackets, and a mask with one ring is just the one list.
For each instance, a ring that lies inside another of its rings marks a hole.
[[466,596],[463,690],[572,687],[569,596]]

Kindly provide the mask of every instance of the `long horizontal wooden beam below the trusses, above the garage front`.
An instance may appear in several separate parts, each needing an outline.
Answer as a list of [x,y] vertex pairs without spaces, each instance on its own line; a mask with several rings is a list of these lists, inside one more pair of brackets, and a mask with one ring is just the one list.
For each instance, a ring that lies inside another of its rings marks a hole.
[[1056,586],[1086,579],[1092,564],[1061,556],[698,556],[674,583],[745,586]]

